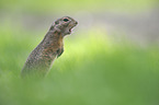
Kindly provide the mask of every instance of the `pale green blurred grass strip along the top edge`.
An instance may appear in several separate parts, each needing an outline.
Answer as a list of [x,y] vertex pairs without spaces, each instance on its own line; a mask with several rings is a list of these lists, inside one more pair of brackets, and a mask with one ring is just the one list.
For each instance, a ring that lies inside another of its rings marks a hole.
[[157,0],[2,0],[0,9],[20,13],[77,13],[77,11],[105,12],[124,11],[138,12],[152,8]]

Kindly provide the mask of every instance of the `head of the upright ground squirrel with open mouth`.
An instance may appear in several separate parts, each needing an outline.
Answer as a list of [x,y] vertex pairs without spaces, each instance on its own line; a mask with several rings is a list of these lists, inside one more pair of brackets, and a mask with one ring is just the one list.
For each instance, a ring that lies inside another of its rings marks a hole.
[[61,33],[61,35],[68,35],[71,34],[71,30],[78,24],[77,21],[75,21],[70,16],[64,16],[61,19],[58,19],[55,21],[53,26],[50,27],[52,31],[57,31],[58,33]]

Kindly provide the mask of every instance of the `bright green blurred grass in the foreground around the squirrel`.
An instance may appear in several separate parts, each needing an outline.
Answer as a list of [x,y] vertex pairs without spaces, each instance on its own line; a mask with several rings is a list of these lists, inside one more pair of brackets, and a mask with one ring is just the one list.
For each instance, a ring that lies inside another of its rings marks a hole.
[[159,104],[158,47],[78,35],[65,39],[65,52],[45,79],[22,80],[21,68],[43,36],[0,32],[0,105]]

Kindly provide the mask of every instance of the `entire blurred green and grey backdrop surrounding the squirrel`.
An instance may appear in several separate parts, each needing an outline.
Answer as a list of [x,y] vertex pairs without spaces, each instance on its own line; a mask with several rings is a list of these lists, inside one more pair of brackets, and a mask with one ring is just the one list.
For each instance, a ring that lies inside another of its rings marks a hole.
[[[159,105],[158,0],[1,0],[0,105]],[[45,79],[20,78],[52,23],[79,22]]]

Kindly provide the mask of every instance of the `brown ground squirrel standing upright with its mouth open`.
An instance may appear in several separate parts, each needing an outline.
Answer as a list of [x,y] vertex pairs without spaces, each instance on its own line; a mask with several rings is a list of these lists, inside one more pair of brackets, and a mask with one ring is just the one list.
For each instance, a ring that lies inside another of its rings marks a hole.
[[55,58],[64,52],[64,36],[71,33],[78,24],[72,18],[65,16],[55,21],[39,45],[31,52],[21,75],[46,75]]

